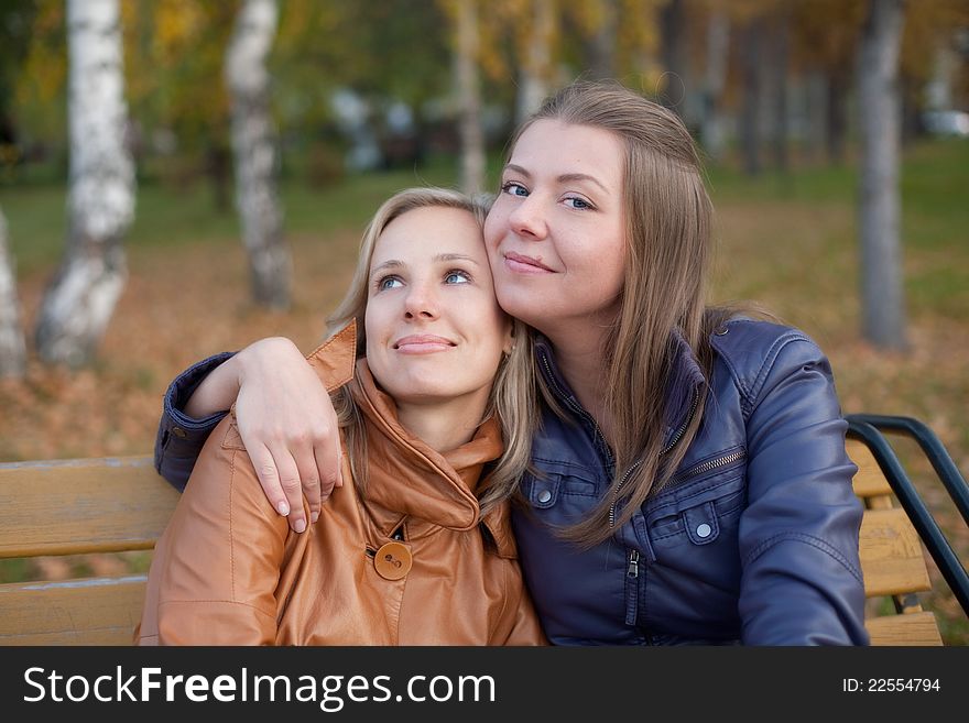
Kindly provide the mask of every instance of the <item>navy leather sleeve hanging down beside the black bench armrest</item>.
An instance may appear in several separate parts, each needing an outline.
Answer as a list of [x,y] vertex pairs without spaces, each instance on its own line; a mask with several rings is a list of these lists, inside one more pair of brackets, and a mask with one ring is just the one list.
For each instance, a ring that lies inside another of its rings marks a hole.
[[862,504],[828,360],[796,331],[742,381],[748,507],[739,613],[748,645],[865,645]]

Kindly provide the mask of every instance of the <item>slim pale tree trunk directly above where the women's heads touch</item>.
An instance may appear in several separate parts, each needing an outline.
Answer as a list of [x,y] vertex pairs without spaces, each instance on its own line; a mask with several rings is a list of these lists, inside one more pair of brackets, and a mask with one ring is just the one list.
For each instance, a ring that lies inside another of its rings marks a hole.
[[484,187],[484,136],[481,132],[481,90],[478,81],[478,0],[458,2],[457,85],[461,138],[461,190],[473,195]]

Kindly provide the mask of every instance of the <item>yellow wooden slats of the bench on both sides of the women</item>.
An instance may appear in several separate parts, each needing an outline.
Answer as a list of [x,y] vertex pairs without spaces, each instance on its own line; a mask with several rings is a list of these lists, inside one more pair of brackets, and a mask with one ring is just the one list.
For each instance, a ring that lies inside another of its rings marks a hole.
[[[930,589],[922,544],[863,442],[848,440],[865,502],[861,565],[869,598],[896,613],[870,613],[873,645],[941,645],[917,593]],[[148,550],[178,493],[149,457],[0,464],[0,558]],[[0,584],[0,645],[130,645],[144,574]]]

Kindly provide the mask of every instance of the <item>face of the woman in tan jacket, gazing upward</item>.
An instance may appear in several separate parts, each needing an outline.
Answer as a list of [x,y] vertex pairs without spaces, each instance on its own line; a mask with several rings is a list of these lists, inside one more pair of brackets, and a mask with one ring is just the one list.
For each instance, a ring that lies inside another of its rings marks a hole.
[[367,361],[398,404],[487,403],[511,320],[498,306],[468,211],[432,206],[391,221],[370,260]]

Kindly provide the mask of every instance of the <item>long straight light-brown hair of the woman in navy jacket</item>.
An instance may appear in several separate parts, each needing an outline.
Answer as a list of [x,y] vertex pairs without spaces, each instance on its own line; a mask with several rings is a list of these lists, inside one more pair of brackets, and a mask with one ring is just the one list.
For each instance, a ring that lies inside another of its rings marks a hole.
[[[617,83],[578,81],[548,98],[518,129],[510,149],[543,119],[609,131],[624,149],[625,277],[605,370],[616,472],[609,493],[592,513],[562,530],[565,538],[587,547],[629,522],[683,461],[707,395],[704,388],[696,399],[686,401],[693,405],[689,424],[678,441],[664,449],[677,338],[690,347],[709,379],[709,335],[733,311],[706,306],[712,205],[683,121]],[[542,380],[540,386],[555,408]]]

